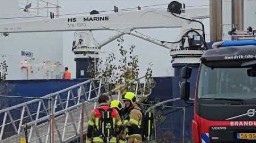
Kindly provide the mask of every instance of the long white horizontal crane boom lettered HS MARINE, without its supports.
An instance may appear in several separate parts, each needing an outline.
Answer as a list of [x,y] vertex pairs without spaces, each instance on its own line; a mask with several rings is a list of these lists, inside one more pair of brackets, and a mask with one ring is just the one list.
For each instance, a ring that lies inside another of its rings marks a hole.
[[[209,18],[209,9],[188,9],[181,16],[191,19]],[[182,27],[183,23],[183,19],[176,18],[166,10],[146,9],[129,12],[119,11],[112,14],[3,23],[0,24],[0,33],[176,28]]]

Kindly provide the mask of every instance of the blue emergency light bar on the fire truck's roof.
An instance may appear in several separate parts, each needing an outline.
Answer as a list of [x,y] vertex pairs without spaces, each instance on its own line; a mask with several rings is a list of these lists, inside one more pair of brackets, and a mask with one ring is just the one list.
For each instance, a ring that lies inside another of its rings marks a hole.
[[256,40],[223,41],[220,47],[256,45]]

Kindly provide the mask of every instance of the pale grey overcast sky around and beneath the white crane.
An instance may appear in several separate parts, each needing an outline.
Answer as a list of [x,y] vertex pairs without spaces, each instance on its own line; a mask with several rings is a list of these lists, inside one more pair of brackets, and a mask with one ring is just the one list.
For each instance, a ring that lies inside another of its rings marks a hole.
[[[164,8],[166,9],[168,3],[171,1],[166,0],[61,0],[59,5],[61,6],[60,14],[71,14],[71,13],[81,13],[90,12],[92,10],[103,11],[103,10],[114,10],[114,6],[118,6],[118,9],[138,7],[138,6],[150,6],[159,5],[152,7],[142,7],[142,8]],[[180,1],[184,2],[187,8],[196,7],[208,7],[208,0],[187,0]],[[160,5],[163,4],[163,5]],[[154,19],[152,19],[154,20]],[[205,24],[205,31],[207,33],[207,40],[209,41],[209,19],[203,20]],[[179,28],[169,28],[169,29],[140,29],[139,32],[146,34],[147,36],[157,38],[164,41],[175,41],[179,34]],[[97,31],[93,32],[94,37],[98,42],[108,38],[115,32],[113,31]],[[73,41],[73,32],[64,32],[64,61],[75,73],[75,62],[73,59],[75,55],[71,52],[71,46]],[[141,69],[140,76],[146,71],[147,64],[152,62],[154,66],[153,76],[172,76],[173,70],[171,68],[171,57],[170,51],[164,49],[158,45],[152,44],[147,41],[143,41],[139,38],[133,36],[123,36],[125,39],[124,45],[129,48],[131,45],[135,45],[135,52],[139,55],[139,66]],[[118,55],[117,42],[113,41],[110,44],[102,47],[101,57],[104,58],[107,54],[114,53]]]

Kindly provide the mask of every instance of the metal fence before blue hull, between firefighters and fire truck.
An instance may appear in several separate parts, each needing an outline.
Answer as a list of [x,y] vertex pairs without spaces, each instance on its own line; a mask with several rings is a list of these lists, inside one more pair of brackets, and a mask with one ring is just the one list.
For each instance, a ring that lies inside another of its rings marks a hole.
[[143,103],[141,105],[143,105],[144,109],[149,109],[147,111],[152,112],[154,115],[153,132],[148,142],[191,142],[191,137],[188,137],[188,132],[191,132],[189,129],[191,120],[187,117],[188,114],[191,114],[191,106],[155,106]]

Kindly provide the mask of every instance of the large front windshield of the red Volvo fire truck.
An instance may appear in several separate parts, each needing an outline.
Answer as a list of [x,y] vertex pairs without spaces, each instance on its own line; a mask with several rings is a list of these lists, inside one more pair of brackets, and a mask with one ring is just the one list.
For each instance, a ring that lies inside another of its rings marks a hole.
[[256,77],[248,76],[248,69],[251,67],[211,68],[201,64],[198,98],[255,98]]

